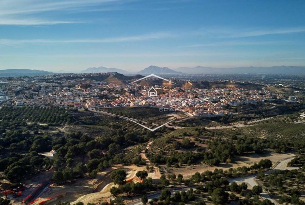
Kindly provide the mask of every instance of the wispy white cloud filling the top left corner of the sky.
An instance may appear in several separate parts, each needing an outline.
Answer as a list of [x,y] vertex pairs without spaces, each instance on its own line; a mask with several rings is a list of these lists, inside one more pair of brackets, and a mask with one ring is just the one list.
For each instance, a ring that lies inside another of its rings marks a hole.
[[113,3],[121,1],[122,0],[1,0],[0,25],[33,26],[82,23],[79,21],[48,19],[44,16],[48,12],[84,12],[86,9],[97,9],[97,7],[100,11],[103,9],[109,11],[112,6],[114,6]]

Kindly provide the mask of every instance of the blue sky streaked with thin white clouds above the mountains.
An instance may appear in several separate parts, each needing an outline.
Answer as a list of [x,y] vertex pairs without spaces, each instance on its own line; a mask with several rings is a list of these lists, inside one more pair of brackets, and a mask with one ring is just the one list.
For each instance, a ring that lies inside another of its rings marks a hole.
[[0,0],[0,69],[305,66],[305,0]]

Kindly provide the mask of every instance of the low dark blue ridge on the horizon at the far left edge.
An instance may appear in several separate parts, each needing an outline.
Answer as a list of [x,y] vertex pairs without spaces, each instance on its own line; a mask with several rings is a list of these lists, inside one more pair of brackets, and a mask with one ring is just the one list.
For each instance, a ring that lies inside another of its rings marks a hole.
[[44,71],[44,70],[30,70],[30,69],[0,70],[0,77],[43,76],[49,74],[52,74],[52,72]]

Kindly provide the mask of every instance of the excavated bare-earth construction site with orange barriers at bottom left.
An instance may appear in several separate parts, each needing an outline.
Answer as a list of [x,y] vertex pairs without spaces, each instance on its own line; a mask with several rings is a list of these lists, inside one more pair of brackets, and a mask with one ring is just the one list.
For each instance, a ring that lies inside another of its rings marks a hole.
[[[63,186],[50,183],[50,180],[42,179],[40,183],[24,184],[14,189],[2,190],[1,194],[10,199],[14,205],[54,205],[56,202],[103,203],[110,202],[112,197],[110,189],[114,186],[110,179],[110,173],[116,169],[124,169],[127,173],[126,183],[142,183],[143,180],[136,176],[137,171],[145,170],[145,167],[115,166],[104,172],[98,173],[94,179],[87,177],[68,182]],[[158,170],[149,173],[149,177],[155,180],[160,178]]]

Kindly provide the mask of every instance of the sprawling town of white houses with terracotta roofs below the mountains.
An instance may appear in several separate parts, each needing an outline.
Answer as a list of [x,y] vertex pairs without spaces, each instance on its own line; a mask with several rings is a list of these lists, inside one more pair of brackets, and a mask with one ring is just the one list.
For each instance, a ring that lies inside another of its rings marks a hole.
[[[0,82],[0,105],[6,106],[60,106],[75,108],[108,108],[151,106],[179,110],[188,116],[230,114],[229,107],[283,100],[296,103],[295,95],[282,95],[268,90],[240,87],[182,88],[176,84],[139,85],[121,80],[107,83],[92,77],[115,76],[116,73],[54,74],[36,77],[3,78]],[[109,78],[108,77],[108,78]],[[228,81],[228,80],[226,80]],[[222,82],[218,80],[218,82]],[[191,81],[183,83],[192,85]],[[194,82],[193,82],[194,83]],[[230,81],[231,84],[239,81]],[[270,83],[270,82],[269,82]],[[291,85],[276,84],[278,87]],[[302,91],[302,90],[301,90]]]

